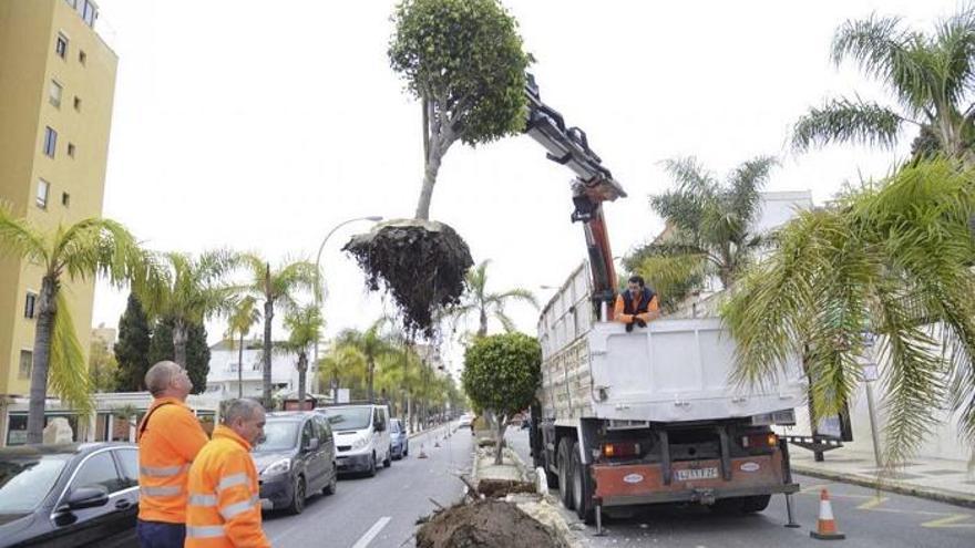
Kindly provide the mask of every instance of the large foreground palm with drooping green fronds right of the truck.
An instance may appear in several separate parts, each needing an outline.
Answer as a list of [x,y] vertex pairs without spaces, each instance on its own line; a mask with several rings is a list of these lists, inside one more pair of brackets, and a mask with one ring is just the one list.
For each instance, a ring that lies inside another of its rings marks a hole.
[[737,380],[759,383],[801,355],[813,414],[835,414],[861,380],[869,330],[879,335],[887,463],[910,456],[940,407],[959,412],[975,447],[973,177],[948,159],[921,162],[786,225],[723,310]]

